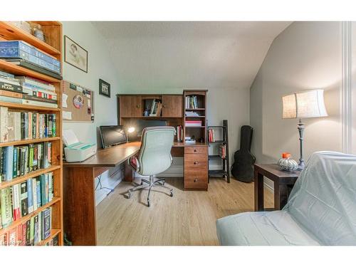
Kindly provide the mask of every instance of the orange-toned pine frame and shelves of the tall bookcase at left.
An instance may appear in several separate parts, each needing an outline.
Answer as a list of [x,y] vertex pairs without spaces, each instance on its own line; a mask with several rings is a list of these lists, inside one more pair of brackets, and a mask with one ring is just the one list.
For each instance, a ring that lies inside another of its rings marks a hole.
[[[35,22],[35,21],[34,21]],[[0,41],[4,40],[22,40],[26,41],[32,46],[40,49],[43,52],[54,56],[58,61],[61,61],[61,68],[63,66],[62,62],[62,25],[56,21],[36,21],[36,23],[41,24],[43,33],[46,35],[46,43],[40,39],[32,36],[30,33],[23,31],[21,28],[14,26],[14,24],[0,21]],[[39,245],[44,245],[48,243],[51,239],[58,236],[58,245],[63,245],[63,148],[62,148],[62,115],[61,115],[61,100],[62,100],[62,86],[61,80],[52,78],[48,75],[43,75],[33,70],[23,68],[21,66],[16,66],[12,63],[6,62],[0,59],[0,70],[12,73],[14,75],[28,76],[36,78],[39,80],[44,80],[51,83],[56,88],[58,108],[47,108],[44,106],[37,105],[22,105],[16,103],[6,103],[0,102],[0,106],[8,107],[9,110],[14,111],[33,111],[39,113],[54,113],[56,114],[56,137],[48,137],[41,139],[32,140],[19,140],[14,142],[0,142],[0,147],[12,146],[12,145],[27,145],[38,142],[51,142],[52,143],[52,162],[51,166],[46,169],[38,169],[34,172],[29,172],[21,177],[16,177],[8,182],[1,182],[0,189],[6,187],[11,187],[14,184],[19,184],[25,182],[28,179],[37,177],[41,174],[46,174],[47,172],[53,172],[54,177],[54,197],[52,201],[39,207],[36,211],[31,214],[21,217],[16,221],[13,221],[10,226],[0,229],[0,236],[5,232],[23,224],[28,221],[32,216],[36,216],[39,212],[43,211],[48,207],[52,207],[52,221],[51,221],[51,235],[48,239],[41,241]]]

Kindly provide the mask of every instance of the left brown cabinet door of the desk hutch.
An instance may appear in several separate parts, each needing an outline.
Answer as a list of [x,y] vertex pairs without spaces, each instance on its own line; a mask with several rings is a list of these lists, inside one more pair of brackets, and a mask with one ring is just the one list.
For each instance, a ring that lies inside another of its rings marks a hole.
[[120,117],[141,117],[142,98],[141,95],[120,96]]

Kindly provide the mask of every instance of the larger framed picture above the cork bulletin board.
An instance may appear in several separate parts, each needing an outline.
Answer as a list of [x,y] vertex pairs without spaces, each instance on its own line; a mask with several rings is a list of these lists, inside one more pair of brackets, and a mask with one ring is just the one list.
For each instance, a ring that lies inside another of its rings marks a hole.
[[64,61],[88,73],[88,51],[68,36],[64,36]]

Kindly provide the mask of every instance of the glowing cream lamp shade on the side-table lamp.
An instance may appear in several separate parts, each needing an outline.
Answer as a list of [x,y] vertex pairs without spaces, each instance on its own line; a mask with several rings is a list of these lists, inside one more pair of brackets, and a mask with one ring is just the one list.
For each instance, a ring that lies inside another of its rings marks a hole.
[[326,117],[324,90],[306,90],[286,95],[283,101],[283,119],[296,117]]

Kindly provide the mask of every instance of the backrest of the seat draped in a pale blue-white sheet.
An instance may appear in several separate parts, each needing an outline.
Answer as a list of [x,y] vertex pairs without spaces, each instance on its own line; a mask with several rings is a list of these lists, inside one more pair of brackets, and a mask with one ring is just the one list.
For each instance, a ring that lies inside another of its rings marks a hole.
[[356,245],[356,155],[315,152],[284,209],[321,244]]

